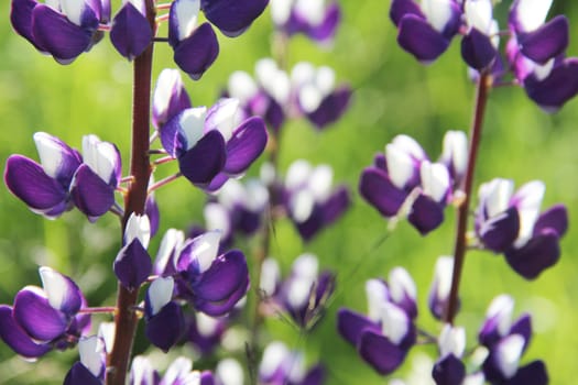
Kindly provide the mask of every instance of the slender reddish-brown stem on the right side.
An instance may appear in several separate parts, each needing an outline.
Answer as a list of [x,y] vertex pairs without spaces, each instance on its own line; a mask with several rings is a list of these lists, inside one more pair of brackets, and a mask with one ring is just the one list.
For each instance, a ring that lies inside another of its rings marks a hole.
[[473,183],[473,173],[476,170],[476,160],[478,157],[478,147],[480,145],[481,140],[486,102],[488,101],[488,92],[490,87],[491,76],[487,72],[482,72],[478,80],[476,106],[473,110],[473,120],[471,123],[468,166],[466,168],[466,176],[464,177],[461,186],[465,198],[461,205],[458,207],[458,223],[456,229],[456,240],[454,246],[454,271],[451,274],[451,288],[449,290],[449,299],[448,306],[446,308],[446,314],[444,315],[444,320],[450,324],[454,324],[454,319],[458,310],[459,284],[461,279],[461,272],[464,268],[464,261],[466,258],[467,251],[468,216],[472,193],[471,188]]

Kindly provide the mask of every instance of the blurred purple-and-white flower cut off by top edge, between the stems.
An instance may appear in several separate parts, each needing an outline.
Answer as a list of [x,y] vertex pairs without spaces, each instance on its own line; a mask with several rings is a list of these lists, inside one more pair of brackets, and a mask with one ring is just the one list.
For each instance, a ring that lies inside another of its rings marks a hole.
[[341,19],[336,1],[272,0],[271,15],[275,28],[287,35],[303,33],[319,44],[332,42]]

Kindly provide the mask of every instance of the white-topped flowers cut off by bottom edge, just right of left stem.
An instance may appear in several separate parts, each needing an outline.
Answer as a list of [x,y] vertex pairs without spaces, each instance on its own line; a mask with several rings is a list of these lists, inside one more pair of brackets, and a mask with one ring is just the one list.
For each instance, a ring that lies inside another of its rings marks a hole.
[[142,355],[132,360],[130,385],[179,385],[179,384],[214,384],[209,371],[193,371],[193,362],[184,356],[177,358],[161,378],[151,361]]

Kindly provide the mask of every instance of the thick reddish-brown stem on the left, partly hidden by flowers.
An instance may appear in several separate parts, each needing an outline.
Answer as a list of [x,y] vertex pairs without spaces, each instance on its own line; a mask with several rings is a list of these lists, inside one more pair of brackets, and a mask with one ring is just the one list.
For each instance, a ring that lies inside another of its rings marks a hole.
[[[155,9],[153,0],[145,0],[146,15],[153,32],[155,31]],[[153,33],[154,34],[154,33]],[[133,180],[128,186],[124,199],[124,217],[122,218],[122,234],[129,217],[134,212],[144,213],[151,164],[149,158],[149,133],[151,110],[151,77],[153,62],[153,44],[134,59],[132,90],[132,143],[130,175]],[[121,234],[121,237],[122,237]],[[108,385],[124,385],[129,361],[132,353],[134,332],[139,320],[134,306],[139,290],[128,290],[118,283],[117,312],[114,315],[114,344],[108,355]]]

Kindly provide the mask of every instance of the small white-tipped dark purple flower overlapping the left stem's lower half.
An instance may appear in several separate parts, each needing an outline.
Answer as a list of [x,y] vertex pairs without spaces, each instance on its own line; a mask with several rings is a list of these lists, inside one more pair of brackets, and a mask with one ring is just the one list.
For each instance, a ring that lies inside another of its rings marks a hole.
[[124,245],[113,263],[119,282],[130,292],[139,288],[152,272],[151,256],[146,252],[150,237],[149,218],[131,213],[124,230]]

